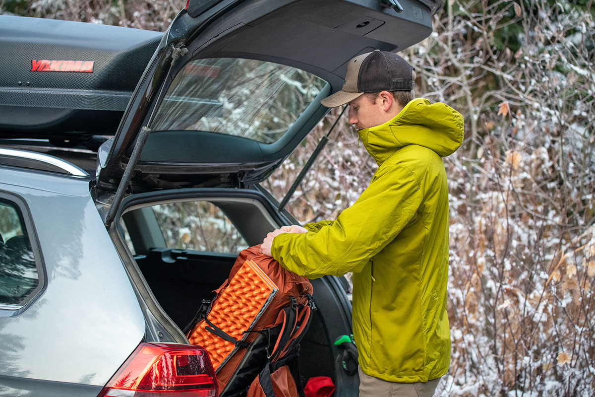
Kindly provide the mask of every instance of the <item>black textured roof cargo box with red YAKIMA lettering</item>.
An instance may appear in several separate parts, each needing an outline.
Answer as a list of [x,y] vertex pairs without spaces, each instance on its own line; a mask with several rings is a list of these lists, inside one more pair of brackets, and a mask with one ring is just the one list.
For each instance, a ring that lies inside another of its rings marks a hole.
[[0,15],[0,137],[113,135],[162,36]]

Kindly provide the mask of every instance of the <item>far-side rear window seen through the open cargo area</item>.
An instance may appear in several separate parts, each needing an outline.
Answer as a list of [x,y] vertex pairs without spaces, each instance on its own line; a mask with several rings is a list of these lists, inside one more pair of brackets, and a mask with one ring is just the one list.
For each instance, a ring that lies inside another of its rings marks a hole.
[[208,201],[154,205],[168,248],[233,254],[248,248],[221,208]]

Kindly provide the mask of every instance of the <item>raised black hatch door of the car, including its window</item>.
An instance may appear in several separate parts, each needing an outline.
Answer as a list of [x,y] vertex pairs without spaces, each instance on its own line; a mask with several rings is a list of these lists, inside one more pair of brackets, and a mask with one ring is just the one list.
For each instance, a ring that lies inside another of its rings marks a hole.
[[320,121],[350,58],[430,35],[439,4],[399,1],[190,0],[101,154],[98,187],[117,186],[131,158],[131,184],[148,189],[260,182]]

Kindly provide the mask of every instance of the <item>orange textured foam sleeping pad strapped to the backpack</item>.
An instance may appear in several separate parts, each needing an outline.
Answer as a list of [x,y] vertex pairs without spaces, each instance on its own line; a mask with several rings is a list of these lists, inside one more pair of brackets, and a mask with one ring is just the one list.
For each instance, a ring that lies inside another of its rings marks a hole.
[[[246,260],[221,291],[206,318],[227,335],[243,340],[247,337],[243,332],[252,328],[277,290],[277,286],[262,273],[255,262]],[[205,327],[208,327],[206,321],[199,321],[190,332],[189,341],[209,352],[213,368],[217,370],[236,345],[209,332]]]

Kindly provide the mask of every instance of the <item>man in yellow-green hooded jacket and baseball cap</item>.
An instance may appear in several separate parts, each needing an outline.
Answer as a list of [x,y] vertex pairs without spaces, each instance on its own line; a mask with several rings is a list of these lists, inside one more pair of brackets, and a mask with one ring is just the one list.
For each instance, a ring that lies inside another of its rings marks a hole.
[[450,364],[441,157],[461,146],[463,118],[445,104],[413,99],[414,78],[392,52],[349,61],[343,89],[322,104],[349,104],[349,123],[378,169],[337,220],[284,226],[261,246],[306,277],[353,272],[360,396],[432,396]]

